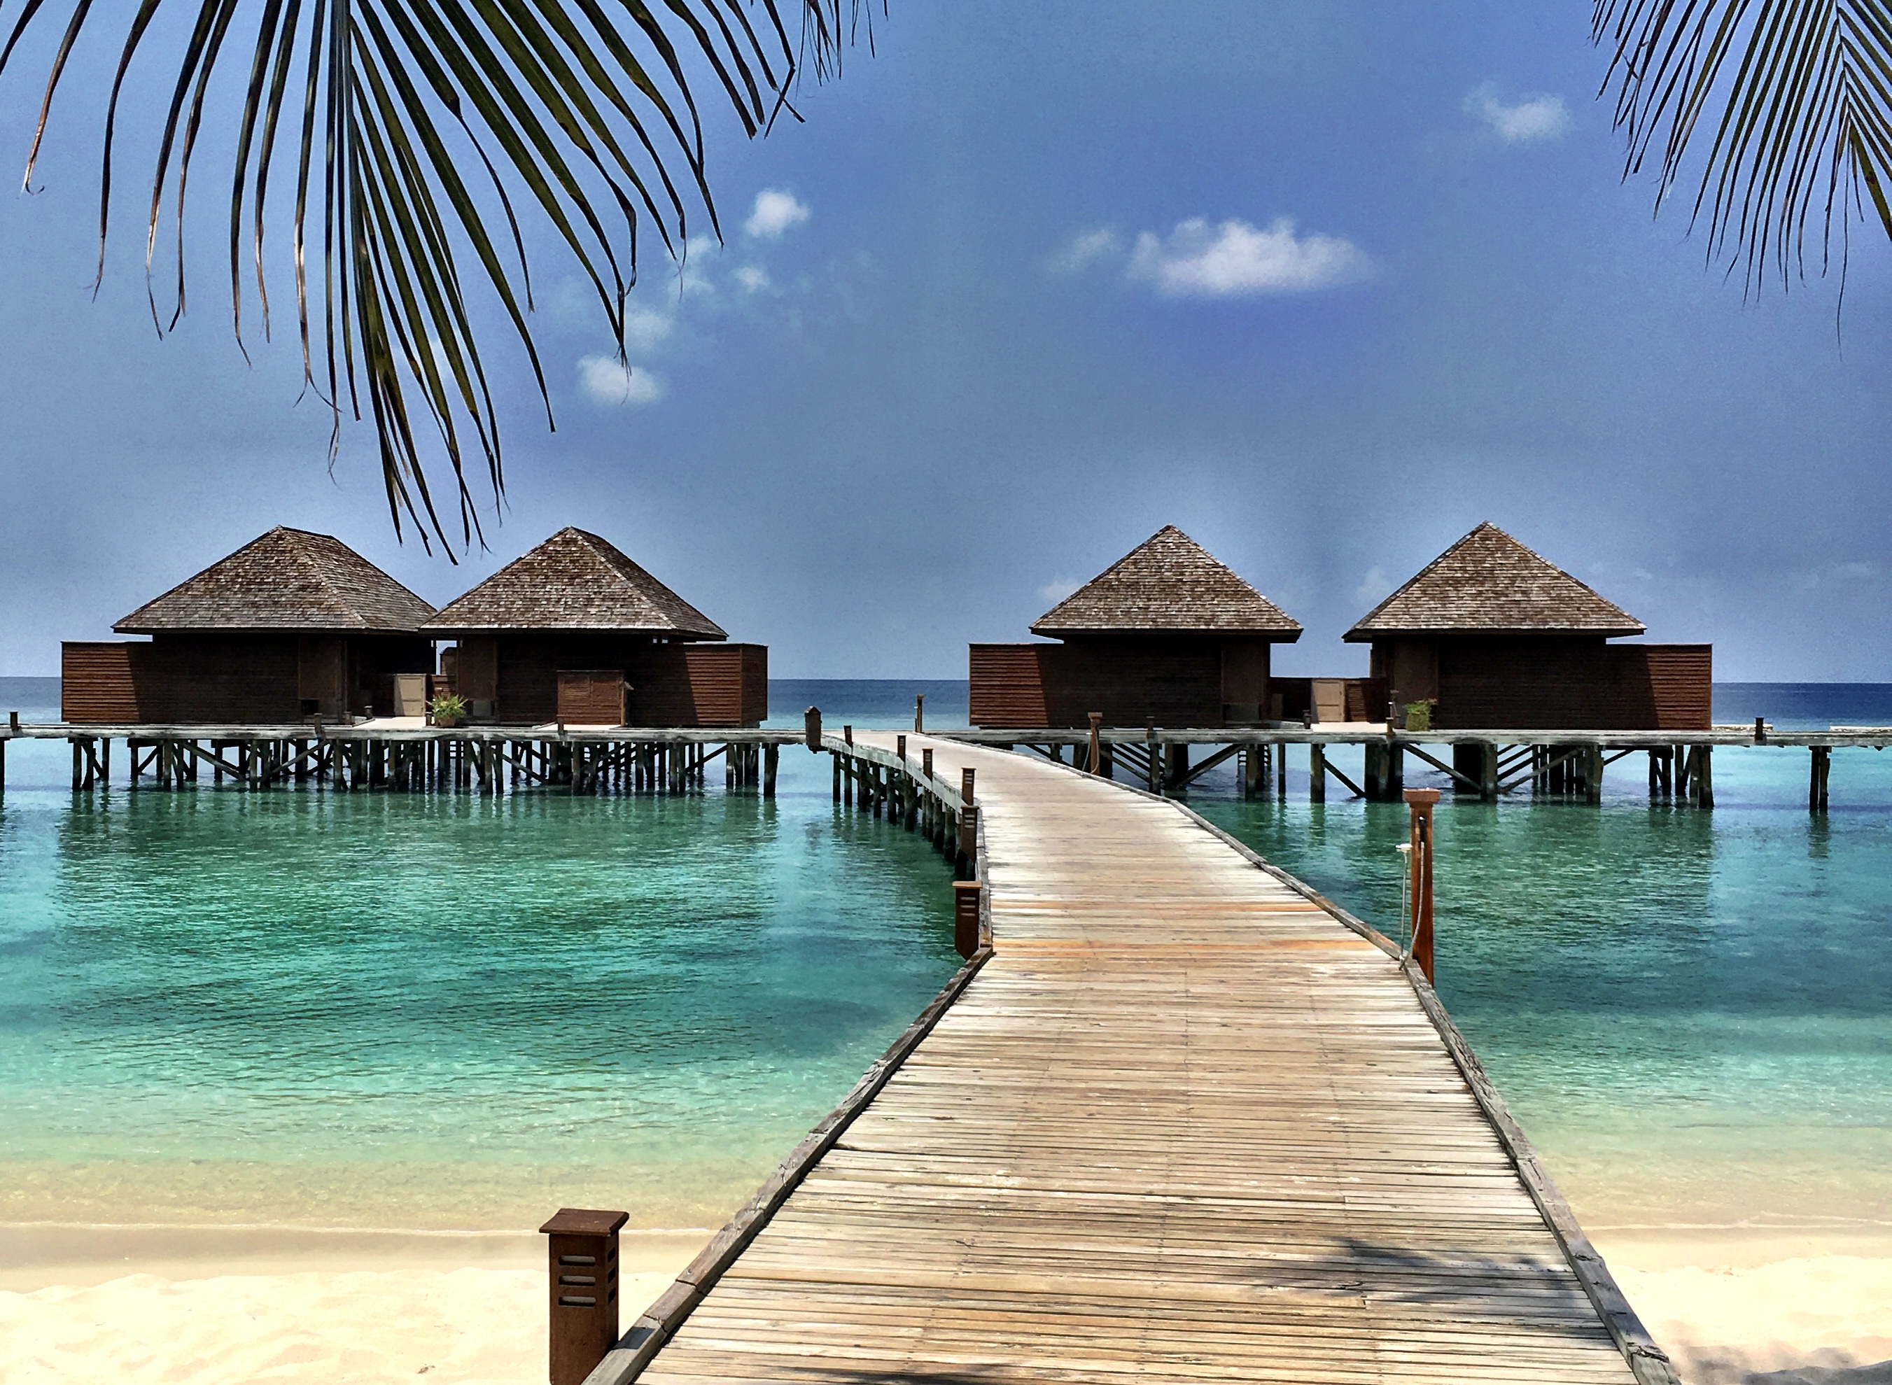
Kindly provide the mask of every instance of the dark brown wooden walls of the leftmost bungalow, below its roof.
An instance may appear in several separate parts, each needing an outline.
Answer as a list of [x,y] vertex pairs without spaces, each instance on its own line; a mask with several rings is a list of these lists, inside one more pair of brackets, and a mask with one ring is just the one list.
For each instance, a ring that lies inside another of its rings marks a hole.
[[433,668],[420,636],[159,634],[61,645],[72,723],[286,725],[394,711],[394,675]]

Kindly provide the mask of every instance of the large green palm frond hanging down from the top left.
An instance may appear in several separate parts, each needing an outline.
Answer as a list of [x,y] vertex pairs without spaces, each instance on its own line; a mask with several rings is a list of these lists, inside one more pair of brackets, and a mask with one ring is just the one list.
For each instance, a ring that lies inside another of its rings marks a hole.
[[[535,208],[556,231],[622,359],[639,233],[655,229],[674,255],[692,214],[717,229],[689,66],[702,64],[755,136],[781,110],[793,112],[789,96],[804,70],[815,79],[838,70],[861,19],[861,0],[848,0],[848,36],[842,0],[662,0],[657,8],[645,0],[138,0],[119,30],[104,112],[100,276],[119,98],[161,4],[184,9],[185,23],[146,219],[153,324],[168,331],[185,307],[185,191],[197,136],[214,117],[212,78],[229,51],[248,53],[229,204],[238,346],[246,252],[265,339],[271,331],[265,212],[276,195],[274,163],[293,159],[289,263],[303,378],[333,411],[331,458],[342,422],[359,420],[365,403],[395,532],[412,524],[424,545],[431,549],[429,535],[437,537],[448,556],[456,543],[481,541],[481,498],[498,505],[505,492],[499,420],[462,259],[505,310],[552,426],[517,208]],[[0,45],[0,74],[23,36],[51,23],[47,9],[62,26],[26,157],[28,185],[61,78],[87,23],[98,23],[91,0],[51,8],[26,0]],[[295,129],[293,146],[278,146],[286,123]],[[464,170],[479,176],[469,184]],[[153,280],[166,206],[176,254],[168,314]],[[498,237],[488,227],[494,216],[505,221]],[[312,242],[320,242],[314,265]],[[507,242],[511,257],[499,250]],[[447,509],[458,505],[458,537],[428,484],[428,456],[445,456],[452,473]],[[477,471],[482,482],[471,479]]]

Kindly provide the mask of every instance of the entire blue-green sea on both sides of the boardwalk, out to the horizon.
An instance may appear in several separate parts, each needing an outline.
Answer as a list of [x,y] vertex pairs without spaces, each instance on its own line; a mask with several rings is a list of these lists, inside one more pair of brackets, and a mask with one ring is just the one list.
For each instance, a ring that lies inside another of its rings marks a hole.
[[[0,711],[57,710],[0,679]],[[778,725],[965,725],[963,681],[776,681]],[[1892,725],[1888,685],[1729,683],[1716,721]],[[526,1226],[728,1213],[952,973],[946,872],[781,797],[0,800],[0,1220]],[[1345,755],[1341,768],[1353,772]],[[1440,993],[1580,1217],[1892,1224],[1892,757],[1716,751],[1716,808],[1449,802]],[[1410,783],[1425,776],[1410,772]],[[1192,802],[1398,929],[1404,810]]]

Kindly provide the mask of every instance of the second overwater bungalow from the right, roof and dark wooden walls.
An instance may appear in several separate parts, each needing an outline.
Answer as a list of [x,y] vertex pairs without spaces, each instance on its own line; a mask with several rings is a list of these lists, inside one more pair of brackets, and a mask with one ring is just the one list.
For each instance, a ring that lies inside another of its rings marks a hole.
[[[1031,622],[1046,643],[972,645],[972,725],[1253,725],[1270,649],[1302,626],[1200,543],[1164,526]],[[1050,643],[1056,641],[1056,643]]]

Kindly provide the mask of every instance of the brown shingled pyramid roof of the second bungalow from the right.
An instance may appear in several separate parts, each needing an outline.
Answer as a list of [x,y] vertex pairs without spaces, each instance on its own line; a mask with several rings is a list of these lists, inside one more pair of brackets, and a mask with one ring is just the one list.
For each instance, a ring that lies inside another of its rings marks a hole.
[[1300,640],[1300,622],[1165,524],[1031,622],[1041,636],[1200,630]]

